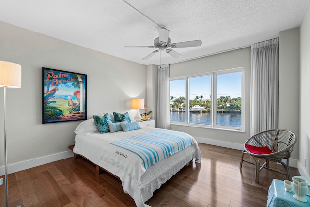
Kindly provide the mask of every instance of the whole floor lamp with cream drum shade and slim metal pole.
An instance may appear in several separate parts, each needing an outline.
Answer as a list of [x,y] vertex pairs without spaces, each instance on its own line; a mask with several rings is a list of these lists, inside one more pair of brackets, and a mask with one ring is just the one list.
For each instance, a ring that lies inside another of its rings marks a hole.
[[0,87],[4,88],[4,181],[5,181],[5,206],[8,207],[8,172],[6,155],[6,129],[5,129],[5,96],[6,88],[21,87],[21,66],[19,64],[0,61]]

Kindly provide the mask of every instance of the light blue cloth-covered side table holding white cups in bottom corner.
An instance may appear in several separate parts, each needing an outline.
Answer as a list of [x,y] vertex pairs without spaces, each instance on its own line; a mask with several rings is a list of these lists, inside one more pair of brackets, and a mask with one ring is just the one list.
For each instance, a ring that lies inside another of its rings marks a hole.
[[307,202],[297,201],[292,192],[285,191],[284,181],[273,179],[268,191],[267,207],[310,207],[310,196],[305,195]]

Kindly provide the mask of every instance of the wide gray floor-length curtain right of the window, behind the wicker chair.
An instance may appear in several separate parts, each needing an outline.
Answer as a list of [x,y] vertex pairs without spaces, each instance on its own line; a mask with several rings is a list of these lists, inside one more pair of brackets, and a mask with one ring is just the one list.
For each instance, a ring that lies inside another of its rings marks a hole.
[[278,128],[279,55],[278,38],[256,43],[252,48],[251,135]]

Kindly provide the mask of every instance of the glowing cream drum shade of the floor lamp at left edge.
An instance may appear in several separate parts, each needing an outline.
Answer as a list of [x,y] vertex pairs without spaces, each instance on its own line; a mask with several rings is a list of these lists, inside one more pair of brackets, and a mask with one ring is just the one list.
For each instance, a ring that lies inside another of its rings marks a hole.
[[21,87],[21,65],[0,61],[0,87]]

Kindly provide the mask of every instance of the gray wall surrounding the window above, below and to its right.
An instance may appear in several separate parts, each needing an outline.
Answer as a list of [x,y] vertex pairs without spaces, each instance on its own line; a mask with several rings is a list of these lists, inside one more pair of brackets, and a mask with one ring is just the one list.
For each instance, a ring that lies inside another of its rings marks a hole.
[[245,132],[218,130],[202,127],[170,125],[170,129],[184,131],[194,136],[198,142],[210,143],[224,147],[242,149],[249,138],[250,112],[250,76],[251,76],[251,48],[236,49],[212,56],[207,56],[182,63],[171,64],[170,78],[200,74],[231,68],[244,67],[245,69]]

